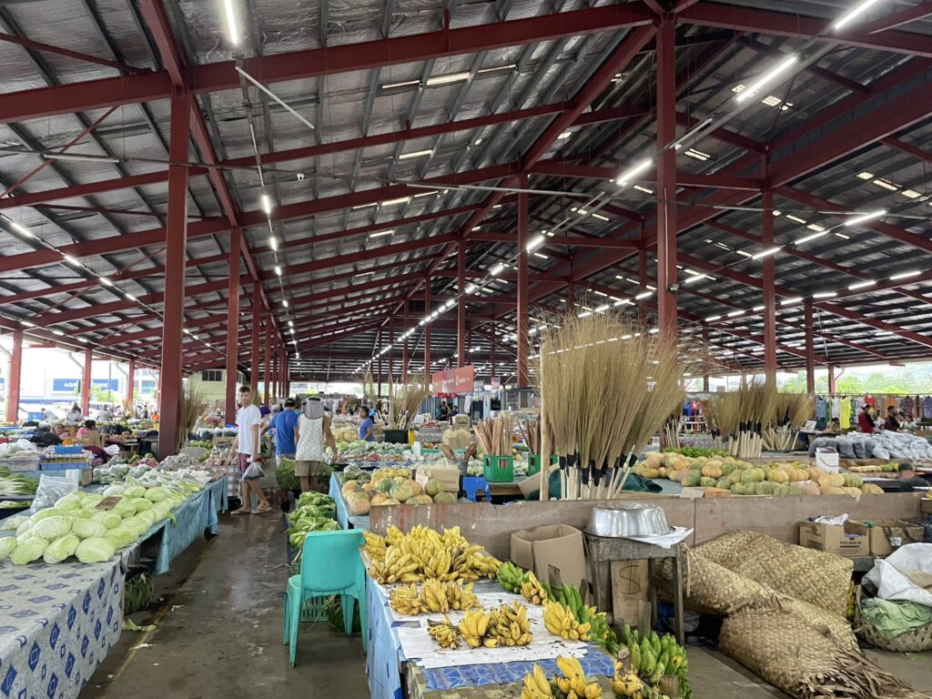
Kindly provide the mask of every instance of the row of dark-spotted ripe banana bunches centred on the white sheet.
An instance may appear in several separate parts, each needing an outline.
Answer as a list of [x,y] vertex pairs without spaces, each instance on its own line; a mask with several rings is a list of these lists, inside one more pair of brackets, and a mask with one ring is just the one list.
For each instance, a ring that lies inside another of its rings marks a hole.
[[466,610],[459,624],[446,615],[442,622],[429,620],[428,633],[441,648],[459,648],[460,641],[469,648],[527,646],[534,639],[528,608],[520,602],[503,604],[498,610]]

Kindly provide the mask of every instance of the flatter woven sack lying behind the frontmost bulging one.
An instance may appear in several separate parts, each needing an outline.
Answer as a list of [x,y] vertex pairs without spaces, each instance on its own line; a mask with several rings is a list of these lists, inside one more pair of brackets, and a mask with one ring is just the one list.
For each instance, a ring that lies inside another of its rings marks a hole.
[[848,558],[753,531],[725,534],[697,546],[695,552],[755,583],[844,616],[854,568]]

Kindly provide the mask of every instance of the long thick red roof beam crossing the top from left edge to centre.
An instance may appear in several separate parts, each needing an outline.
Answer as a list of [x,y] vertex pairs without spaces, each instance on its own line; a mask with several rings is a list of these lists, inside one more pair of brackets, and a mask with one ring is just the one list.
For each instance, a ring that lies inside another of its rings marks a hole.
[[[647,24],[651,19],[651,13],[633,3],[594,7],[259,56],[243,61],[243,69],[265,84],[274,84],[524,46],[568,36],[612,32]],[[224,61],[190,66],[190,89],[196,94],[239,89],[240,75],[235,65],[233,61]],[[171,75],[161,71],[10,92],[0,96],[0,123],[86,112],[114,104],[155,102],[171,94],[171,85]]]

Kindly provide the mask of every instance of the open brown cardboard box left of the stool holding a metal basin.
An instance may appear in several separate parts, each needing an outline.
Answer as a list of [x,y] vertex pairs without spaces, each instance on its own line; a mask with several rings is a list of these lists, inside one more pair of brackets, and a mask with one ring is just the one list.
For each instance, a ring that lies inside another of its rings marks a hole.
[[512,561],[541,581],[579,586],[588,579],[583,532],[569,525],[544,525],[512,534]]

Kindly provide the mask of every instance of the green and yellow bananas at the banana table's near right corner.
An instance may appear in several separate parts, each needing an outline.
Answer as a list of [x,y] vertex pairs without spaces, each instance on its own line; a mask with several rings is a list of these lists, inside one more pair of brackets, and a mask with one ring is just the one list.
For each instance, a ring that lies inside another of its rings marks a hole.
[[[660,681],[667,676],[677,678],[679,699],[691,699],[692,689],[686,675],[690,669],[686,649],[676,638],[656,631],[641,636],[628,624],[622,629],[623,648],[627,649],[624,663],[615,665],[611,689],[618,696],[640,697],[660,693]],[[624,650],[623,653],[624,654]]]

